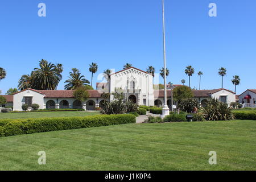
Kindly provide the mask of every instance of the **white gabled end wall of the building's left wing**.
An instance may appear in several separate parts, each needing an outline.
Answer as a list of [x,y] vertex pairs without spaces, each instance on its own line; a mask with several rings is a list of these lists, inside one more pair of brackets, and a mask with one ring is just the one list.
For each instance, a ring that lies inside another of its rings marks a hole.
[[32,96],[32,104],[38,104],[39,109],[44,109],[44,95],[32,90],[24,90],[23,92],[17,93],[13,98],[13,110],[22,111],[22,105],[25,104],[26,96]]

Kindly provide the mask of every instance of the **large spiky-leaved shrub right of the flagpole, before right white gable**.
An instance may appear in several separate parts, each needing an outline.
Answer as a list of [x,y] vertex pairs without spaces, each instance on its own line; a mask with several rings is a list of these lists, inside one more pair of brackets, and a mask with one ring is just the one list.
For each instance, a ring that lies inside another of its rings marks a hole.
[[201,111],[207,121],[226,121],[234,119],[234,114],[228,104],[218,101],[217,98],[208,100],[205,107],[201,108]]

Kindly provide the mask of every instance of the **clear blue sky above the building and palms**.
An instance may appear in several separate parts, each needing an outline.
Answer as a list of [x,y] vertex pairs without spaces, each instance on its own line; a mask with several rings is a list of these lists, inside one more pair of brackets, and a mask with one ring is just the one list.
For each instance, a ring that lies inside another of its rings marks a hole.
[[[40,2],[46,3],[46,17],[38,16]],[[217,17],[208,15],[211,2]],[[192,65],[204,73],[202,89],[220,88],[217,72],[225,67],[226,89],[234,90],[233,75],[241,77],[238,94],[255,89],[255,7],[255,0],[166,0],[167,81],[188,83],[184,69]],[[92,62],[98,73],[119,71],[126,63],[145,71],[148,65],[163,67],[160,0],[9,0],[0,3],[0,22],[0,67],[7,71],[2,93],[41,59],[64,65],[58,89],[64,89],[71,68],[90,80]],[[94,88],[96,82],[94,76]],[[199,87],[197,74],[191,86]]]

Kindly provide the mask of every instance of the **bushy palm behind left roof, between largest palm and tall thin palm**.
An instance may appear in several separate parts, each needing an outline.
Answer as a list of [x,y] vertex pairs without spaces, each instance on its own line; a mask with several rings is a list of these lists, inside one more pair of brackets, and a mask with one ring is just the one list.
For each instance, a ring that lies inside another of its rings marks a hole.
[[69,79],[65,81],[65,83],[68,83],[65,85],[66,90],[75,90],[80,86],[90,84],[90,82],[85,79],[85,76],[81,75],[79,69],[72,68],[72,72],[70,72],[69,75]]

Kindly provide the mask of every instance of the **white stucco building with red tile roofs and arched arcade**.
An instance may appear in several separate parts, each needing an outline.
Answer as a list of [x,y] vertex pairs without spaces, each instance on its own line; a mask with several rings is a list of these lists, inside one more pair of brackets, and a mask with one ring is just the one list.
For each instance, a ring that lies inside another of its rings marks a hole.
[[[122,92],[127,100],[138,105],[161,107],[164,103],[164,90],[154,90],[153,79],[150,73],[131,67],[110,75],[110,83],[97,83],[97,90],[88,90],[89,98],[85,102],[77,101],[73,96],[73,90],[26,89],[14,94],[13,107],[15,111],[21,111],[23,104],[38,104],[39,109],[95,110],[104,101],[102,93],[108,93],[109,90],[112,94],[115,91]],[[200,103],[208,98],[217,98],[227,104],[236,102],[236,94],[226,89],[193,90],[193,93]],[[110,100],[113,100],[113,95]],[[170,89],[167,90],[167,105],[171,108]]]

